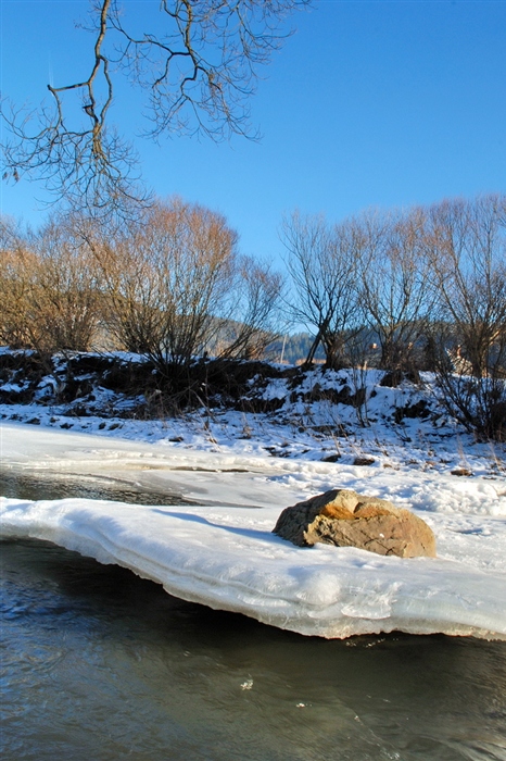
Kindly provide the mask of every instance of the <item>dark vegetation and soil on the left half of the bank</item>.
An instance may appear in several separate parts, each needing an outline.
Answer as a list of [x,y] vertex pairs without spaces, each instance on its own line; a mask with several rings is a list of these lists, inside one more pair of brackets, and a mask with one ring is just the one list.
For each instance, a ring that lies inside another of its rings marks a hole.
[[176,413],[201,407],[245,406],[250,411],[266,412],[282,400],[255,398],[265,384],[271,378],[302,374],[300,369],[230,359],[195,360],[185,367],[167,364],[162,374],[150,360],[113,354],[72,354],[64,359],[37,352],[2,352],[0,402],[69,404],[68,413],[81,416],[97,410],[98,396],[105,389],[130,401],[125,407],[127,416],[153,417],[162,411]]

